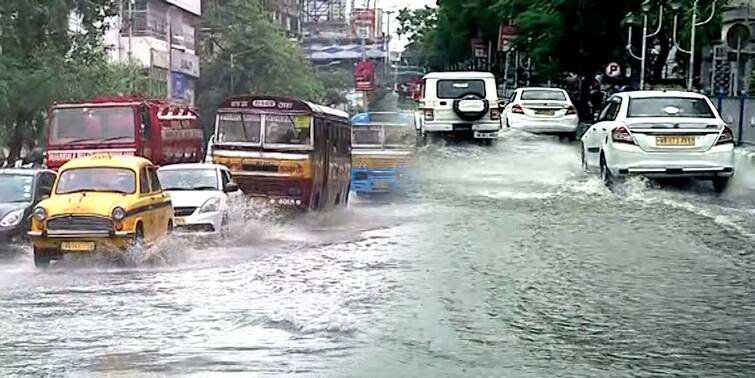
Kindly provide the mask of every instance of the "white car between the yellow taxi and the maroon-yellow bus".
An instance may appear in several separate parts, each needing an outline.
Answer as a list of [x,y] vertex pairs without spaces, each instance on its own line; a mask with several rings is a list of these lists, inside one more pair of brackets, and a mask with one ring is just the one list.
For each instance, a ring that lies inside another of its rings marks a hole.
[[230,204],[243,196],[228,168],[218,164],[172,164],[157,170],[175,211],[175,232],[220,235]]

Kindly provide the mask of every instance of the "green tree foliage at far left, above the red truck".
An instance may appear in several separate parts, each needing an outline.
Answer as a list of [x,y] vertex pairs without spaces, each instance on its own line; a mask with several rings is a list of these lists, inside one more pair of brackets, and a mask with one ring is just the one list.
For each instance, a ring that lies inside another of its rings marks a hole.
[[11,160],[41,134],[53,102],[148,89],[136,67],[105,61],[101,37],[116,10],[116,0],[0,2],[0,133]]

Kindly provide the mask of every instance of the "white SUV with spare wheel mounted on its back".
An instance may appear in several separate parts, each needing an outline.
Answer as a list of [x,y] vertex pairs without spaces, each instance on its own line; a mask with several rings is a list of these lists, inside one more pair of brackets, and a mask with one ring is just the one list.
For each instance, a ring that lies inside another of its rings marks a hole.
[[422,135],[494,140],[501,130],[495,76],[489,72],[434,72],[422,79]]

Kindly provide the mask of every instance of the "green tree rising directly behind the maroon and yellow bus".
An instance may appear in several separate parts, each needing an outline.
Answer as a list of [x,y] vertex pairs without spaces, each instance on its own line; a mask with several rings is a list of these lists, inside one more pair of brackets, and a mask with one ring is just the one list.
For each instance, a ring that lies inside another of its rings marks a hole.
[[322,99],[324,88],[296,42],[268,20],[258,0],[208,2],[202,26],[198,92],[207,128],[218,104],[233,94]]

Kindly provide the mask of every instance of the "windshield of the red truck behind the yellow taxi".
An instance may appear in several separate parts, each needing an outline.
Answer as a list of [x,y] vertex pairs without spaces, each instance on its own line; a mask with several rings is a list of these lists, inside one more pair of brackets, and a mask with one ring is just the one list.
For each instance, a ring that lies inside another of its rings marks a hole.
[[57,108],[51,114],[49,143],[133,142],[135,130],[129,106]]

